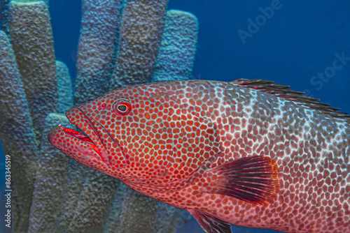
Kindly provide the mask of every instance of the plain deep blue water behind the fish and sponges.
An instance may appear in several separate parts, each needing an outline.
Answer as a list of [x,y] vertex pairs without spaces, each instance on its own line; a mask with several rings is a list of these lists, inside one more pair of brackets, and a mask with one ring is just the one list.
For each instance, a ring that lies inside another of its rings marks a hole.
[[[271,6],[276,8],[273,15],[268,15],[269,18],[262,16],[262,11],[266,12]],[[170,0],[169,9],[186,10],[195,14],[200,22],[193,70],[196,79],[272,80],[350,112],[350,61],[335,61],[335,54],[350,57],[349,1]],[[50,0],[50,13],[56,59],[69,66],[74,79],[80,1]],[[258,27],[249,31],[250,22],[256,20]],[[239,30],[250,33],[250,37],[242,40]],[[337,69],[333,68],[333,61]],[[318,73],[327,73],[328,77],[324,75],[322,80]],[[1,177],[4,177],[3,151],[0,153]],[[4,204],[0,204],[3,216]],[[0,221],[0,231],[3,229],[1,224],[3,221]],[[232,229],[235,232],[273,232],[244,227]],[[180,232],[197,233],[202,230],[192,221]]]

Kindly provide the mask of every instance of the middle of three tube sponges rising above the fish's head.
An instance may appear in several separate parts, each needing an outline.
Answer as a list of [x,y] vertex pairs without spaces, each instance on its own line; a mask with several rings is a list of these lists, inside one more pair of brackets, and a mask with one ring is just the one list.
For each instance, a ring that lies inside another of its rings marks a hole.
[[125,3],[111,89],[149,82],[162,37],[167,0]]

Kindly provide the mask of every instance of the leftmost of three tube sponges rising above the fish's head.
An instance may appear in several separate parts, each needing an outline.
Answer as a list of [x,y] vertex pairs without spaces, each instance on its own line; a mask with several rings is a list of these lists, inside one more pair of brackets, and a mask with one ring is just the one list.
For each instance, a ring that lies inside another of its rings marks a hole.
[[122,0],[83,1],[74,93],[76,105],[109,91],[116,62],[122,6]]

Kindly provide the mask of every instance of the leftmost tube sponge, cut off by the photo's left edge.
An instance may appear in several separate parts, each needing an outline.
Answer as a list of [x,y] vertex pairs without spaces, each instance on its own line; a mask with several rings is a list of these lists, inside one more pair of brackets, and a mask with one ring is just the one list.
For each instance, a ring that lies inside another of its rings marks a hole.
[[11,174],[17,195],[11,198],[13,202],[18,200],[13,206],[19,206],[19,209],[13,208],[13,230],[25,232],[34,189],[38,142],[15,54],[3,31],[0,31],[0,47],[0,140],[3,151],[11,156]]

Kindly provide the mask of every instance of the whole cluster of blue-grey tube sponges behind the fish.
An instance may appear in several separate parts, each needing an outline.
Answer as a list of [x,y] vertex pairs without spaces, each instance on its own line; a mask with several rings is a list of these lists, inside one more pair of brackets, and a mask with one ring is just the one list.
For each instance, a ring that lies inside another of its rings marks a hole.
[[13,155],[13,232],[174,232],[182,210],[71,160],[45,138],[55,124],[69,124],[55,112],[73,99],[77,105],[131,84],[189,78],[195,16],[167,12],[167,0],[83,1],[73,98],[69,70],[55,61],[46,3],[0,7],[10,35],[0,32],[0,139]]

